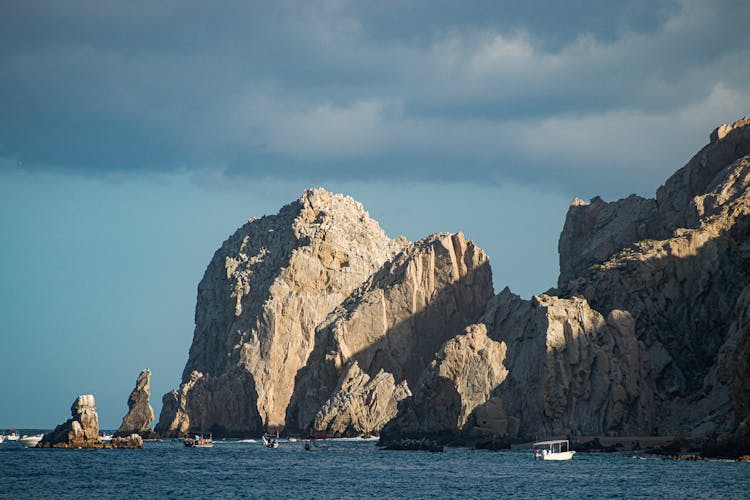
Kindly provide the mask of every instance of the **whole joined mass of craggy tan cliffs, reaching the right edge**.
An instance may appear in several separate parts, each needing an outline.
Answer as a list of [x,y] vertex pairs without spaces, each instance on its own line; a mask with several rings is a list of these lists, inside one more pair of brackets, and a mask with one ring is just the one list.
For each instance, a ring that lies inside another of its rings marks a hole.
[[[657,191],[576,199],[557,288],[492,288],[461,233],[388,238],[323,189],[251,218],[198,286],[162,436],[750,443],[750,120]],[[747,451],[746,451],[747,453]]]

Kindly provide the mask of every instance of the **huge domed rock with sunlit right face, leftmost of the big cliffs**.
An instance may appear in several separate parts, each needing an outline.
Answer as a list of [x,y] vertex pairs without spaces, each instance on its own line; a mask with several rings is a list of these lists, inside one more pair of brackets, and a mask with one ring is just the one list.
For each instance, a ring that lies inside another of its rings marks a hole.
[[198,286],[182,385],[165,396],[156,431],[284,427],[315,327],[406,243],[386,237],[361,204],[322,189],[251,219],[216,252]]

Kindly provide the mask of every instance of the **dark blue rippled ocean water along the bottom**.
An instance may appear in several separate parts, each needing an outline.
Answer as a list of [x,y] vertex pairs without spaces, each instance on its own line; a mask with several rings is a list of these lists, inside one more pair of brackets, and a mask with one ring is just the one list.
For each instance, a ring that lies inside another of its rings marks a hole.
[[531,450],[382,451],[373,441],[252,441],[142,450],[0,445],[0,498],[750,498],[750,463],[638,460],[578,453],[568,462]]

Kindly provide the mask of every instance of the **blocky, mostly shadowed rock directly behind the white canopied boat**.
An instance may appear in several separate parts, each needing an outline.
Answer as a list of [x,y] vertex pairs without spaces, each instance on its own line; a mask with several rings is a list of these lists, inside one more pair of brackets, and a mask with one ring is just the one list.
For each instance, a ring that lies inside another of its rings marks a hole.
[[580,297],[525,301],[507,289],[483,318],[508,345],[495,391],[518,436],[632,434],[651,425],[649,367],[629,313],[606,319]]

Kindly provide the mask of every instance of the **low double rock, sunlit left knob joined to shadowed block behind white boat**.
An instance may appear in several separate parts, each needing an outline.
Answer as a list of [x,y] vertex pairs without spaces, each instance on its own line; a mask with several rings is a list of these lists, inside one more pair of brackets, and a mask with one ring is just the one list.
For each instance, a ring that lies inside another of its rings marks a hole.
[[482,321],[446,344],[413,401],[383,429],[386,441],[442,435],[466,443],[648,427],[648,368],[628,313],[613,311],[605,320],[581,298],[526,301],[506,289]]

